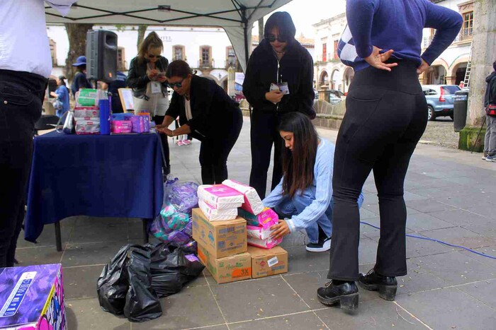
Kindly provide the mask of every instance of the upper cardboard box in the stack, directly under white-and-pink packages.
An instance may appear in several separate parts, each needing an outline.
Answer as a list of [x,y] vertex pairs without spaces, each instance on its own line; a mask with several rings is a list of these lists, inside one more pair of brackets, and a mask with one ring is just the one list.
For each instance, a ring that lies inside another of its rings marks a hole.
[[209,221],[200,208],[194,208],[193,239],[214,259],[247,252],[247,220]]

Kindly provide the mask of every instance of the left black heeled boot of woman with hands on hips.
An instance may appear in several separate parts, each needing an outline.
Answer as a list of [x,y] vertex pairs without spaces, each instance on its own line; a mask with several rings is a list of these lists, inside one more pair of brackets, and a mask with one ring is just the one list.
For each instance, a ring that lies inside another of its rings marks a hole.
[[317,299],[324,305],[337,305],[342,310],[357,310],[359,308],[359,288],[354,282],[334,285],[332,281],[317,290]]

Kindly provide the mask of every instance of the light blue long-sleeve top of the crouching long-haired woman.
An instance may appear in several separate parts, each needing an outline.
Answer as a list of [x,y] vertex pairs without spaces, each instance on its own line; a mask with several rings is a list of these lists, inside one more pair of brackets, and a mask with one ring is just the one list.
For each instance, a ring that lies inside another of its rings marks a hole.
[[[314,179],[312,186],[308,188],[312,189],[315,199],[298,216],[293,216],[291,219],[286,220],[291,232],[305,229],[308,227],[308,223],[312,223],[312,221],[320,218],[329,207],[332,198],[333,164],[334,145],[325,139],[320,139],[319,146],[317,147],[317,155],[315,156],[315,165],[313,167]],[[266,196],[264,201],[262,201],[264,206],[273,208],[281,203],[284,198],[283,179],[271,191],[269,196]]]

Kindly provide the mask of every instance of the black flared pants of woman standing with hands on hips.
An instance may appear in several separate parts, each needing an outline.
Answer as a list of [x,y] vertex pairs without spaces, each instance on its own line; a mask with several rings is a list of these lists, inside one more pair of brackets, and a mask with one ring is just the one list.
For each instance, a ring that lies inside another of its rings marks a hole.
[[400,61],[393,71],[358,71],[346,98],[332,177],[332,244],[328,278],[359,276],[360,213],[356,200],[373,170],[381,213],[375,269],[383,276],[407,273],[403,184],[410,157],[427,125],[427,102],[416,66]]

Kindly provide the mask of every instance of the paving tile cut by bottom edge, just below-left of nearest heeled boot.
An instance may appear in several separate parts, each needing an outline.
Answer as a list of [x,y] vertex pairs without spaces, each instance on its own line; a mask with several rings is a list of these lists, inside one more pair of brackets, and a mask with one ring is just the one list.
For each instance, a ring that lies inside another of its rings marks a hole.
[[320,319],[313,312],[305,312],[300,314],[286,315],[283,317],[271,317],[269,319],[257,319],[252,322],[243,322],[230,324],[231,330],[253,330],[253,329],[308,329],[320,330],[325,329]]

